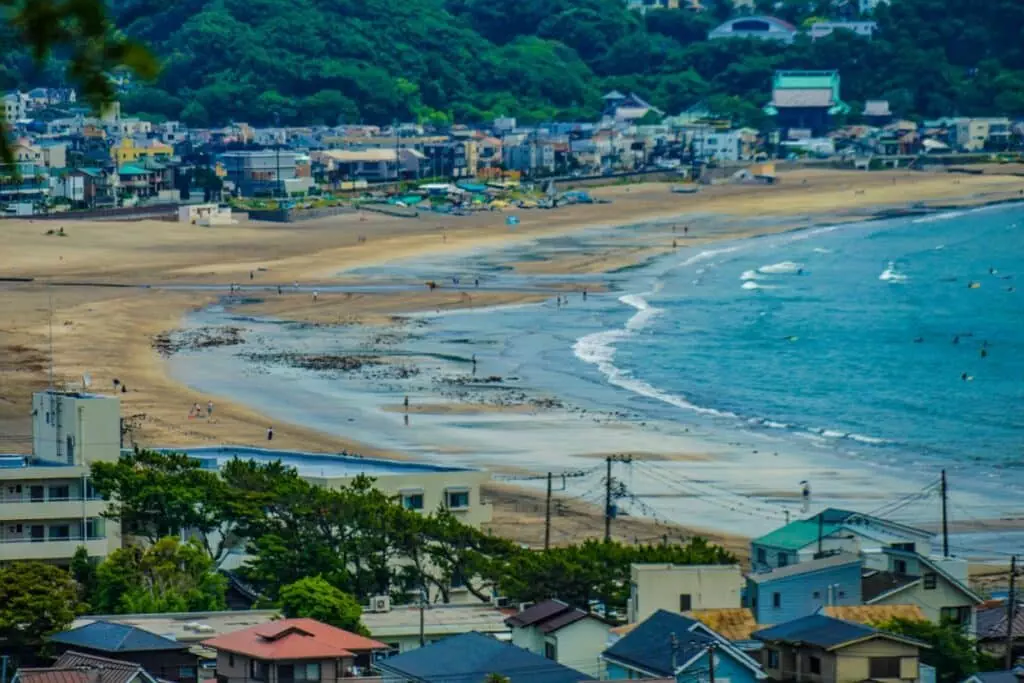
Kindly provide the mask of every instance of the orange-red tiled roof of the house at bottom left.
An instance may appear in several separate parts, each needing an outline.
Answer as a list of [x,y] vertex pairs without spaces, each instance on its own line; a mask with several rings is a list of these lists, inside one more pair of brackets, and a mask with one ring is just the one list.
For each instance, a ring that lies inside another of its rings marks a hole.
[[204,640],[216,650],[258,659],[325,659],[387,649],[384,643],[311,618],[286,618]]

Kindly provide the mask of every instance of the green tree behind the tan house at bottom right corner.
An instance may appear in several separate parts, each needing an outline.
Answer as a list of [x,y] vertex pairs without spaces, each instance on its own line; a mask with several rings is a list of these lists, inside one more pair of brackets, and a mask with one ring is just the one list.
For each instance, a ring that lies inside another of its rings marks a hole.
[[877,625],[879,629],[895,633],[929,646],[922,650],[921,659],[935,667],[939,683],[957,683],[979,671],[997,668],[995,657],[975,649],[974,643],[963,628],[952,624],[895,618]]

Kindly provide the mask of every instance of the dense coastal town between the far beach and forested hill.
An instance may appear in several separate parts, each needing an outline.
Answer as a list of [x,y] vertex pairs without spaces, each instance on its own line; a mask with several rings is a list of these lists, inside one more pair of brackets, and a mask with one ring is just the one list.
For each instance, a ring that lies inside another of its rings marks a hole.
[[500,190],[526,183],[538,187],[532,205],[550,207],[554,198],[542,190],[551,179],[660,173],[681,184],[770,182],[770,165],[757,164],[922,169],[1019,162],[1024,148],[1024,121],[1009,117],[914,122],[898,119],[881,99],[852,112],[837,71],[778,71],[771,90],[768,130],[737,127],[707,103],[666,113],[618,91],[603,96],[596,121],[524,126],[502,117],[443,129],[241,122],[197,129],[123,116],[116,103],[92,116],[73,89],[13,91],[4,95],[4,112],[15,164],[0,177],[0,206],[8,216],[211,201],[259,210],[281,201],[334,206],[377,193],[452,212],[492,208],[495,195],[504,201],[510,194]]

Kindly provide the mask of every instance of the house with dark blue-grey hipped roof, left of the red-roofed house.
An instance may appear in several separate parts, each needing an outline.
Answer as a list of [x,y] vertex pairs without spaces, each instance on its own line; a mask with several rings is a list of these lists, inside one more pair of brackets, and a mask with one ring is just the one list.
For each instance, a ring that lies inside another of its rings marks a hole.
[[181,643],[142,629],[95,621],[49,637],[58,654],[69,650],[135,664],[163,681],[196,683],[199,657]]

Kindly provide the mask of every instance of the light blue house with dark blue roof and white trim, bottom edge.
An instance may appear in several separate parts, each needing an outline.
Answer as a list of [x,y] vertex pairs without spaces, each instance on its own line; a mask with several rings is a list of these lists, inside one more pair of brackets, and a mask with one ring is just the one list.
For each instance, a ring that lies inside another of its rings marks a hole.
[[714,677],[729,683],[756,683],[764,672],[750,655],[700,622],[659,609],[638,624],[606,649],[605,661],[610,680],[673,678],[679,683],[693,683],[694,678]]

